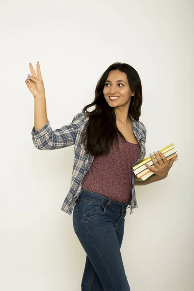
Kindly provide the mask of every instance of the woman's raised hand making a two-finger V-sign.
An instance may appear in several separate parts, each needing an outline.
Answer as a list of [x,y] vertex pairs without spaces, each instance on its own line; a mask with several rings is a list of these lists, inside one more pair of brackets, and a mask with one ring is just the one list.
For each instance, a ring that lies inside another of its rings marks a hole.
[[39,63],[37,62],[36,64],[37,76],[31,63],[29,64],[29,66],[32,73],[32,77],[29,76],[30,81],[26,79],[26,84],[28,86],[28,89],[33,94],[33,97],[45,95],[45,87],[44,87],[44,82],[42,79]]

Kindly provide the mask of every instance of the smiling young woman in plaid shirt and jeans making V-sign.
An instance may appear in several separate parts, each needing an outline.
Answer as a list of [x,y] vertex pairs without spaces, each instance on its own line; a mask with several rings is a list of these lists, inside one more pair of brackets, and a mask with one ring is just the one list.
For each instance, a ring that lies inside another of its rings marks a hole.
[[81,290],[129,291],[120,248],[127,208],[132,214],[138,207],[134,185],[166,178],[177,156],[168,162],[162,153],[154,152],[158,162],[151,156],[155,168],[147,168],[155,175],[135,181],[132,167],[145,157],[146,127],[139,121],[141,80],[130,65],[110,65],[97,82],[94,101],[56,130],[47,118],[38,62],[36,69],[37,75],[30,63],[32,76],[26,79],[35,102],[34,146],[40,150],[75,146],[71,187],[62,210],[73,212],[74,231],[86,252]]

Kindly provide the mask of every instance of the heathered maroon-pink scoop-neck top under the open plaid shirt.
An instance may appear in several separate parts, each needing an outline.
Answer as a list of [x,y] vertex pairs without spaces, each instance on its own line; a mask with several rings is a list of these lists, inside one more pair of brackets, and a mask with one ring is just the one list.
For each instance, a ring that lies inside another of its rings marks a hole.
[[129,203],[131,199],[132,167],[140,155],[139,144],[123,140],[118,134],[119,149],[111,147],[106,156],[95,156],[82,189]]

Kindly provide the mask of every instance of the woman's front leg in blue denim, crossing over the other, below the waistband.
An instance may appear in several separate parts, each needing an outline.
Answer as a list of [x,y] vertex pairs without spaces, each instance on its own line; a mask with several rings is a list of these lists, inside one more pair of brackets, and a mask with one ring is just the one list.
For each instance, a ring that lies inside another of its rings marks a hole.
[[95,201],[77,201],[73,225],[104,291],[129,291],[129,284],[115,231],[117,210]]

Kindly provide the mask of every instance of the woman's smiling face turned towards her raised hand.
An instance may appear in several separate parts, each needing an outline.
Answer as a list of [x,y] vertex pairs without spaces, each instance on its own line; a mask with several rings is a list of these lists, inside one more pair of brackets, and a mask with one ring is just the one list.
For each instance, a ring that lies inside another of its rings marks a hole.
[[[104,97],[111,107],[128,107],[130,105],[131,96],[135,95],[129,87],[127,74],[119,70],[112,70],[109,72],[108,78],[103,89]],[[111,99],[110,96],[119,97]]]

